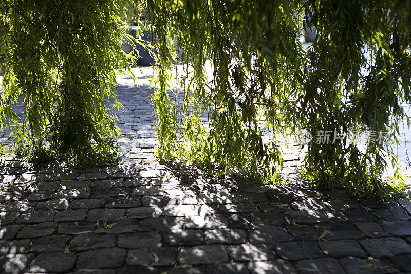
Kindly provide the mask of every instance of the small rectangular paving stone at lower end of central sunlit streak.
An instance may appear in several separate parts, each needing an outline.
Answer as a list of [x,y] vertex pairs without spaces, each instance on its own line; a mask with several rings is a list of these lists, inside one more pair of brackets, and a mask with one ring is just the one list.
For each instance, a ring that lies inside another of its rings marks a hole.
[[244,244],[246,238],[246,232],[241,229],[213,229],[204,233],[207,244]]

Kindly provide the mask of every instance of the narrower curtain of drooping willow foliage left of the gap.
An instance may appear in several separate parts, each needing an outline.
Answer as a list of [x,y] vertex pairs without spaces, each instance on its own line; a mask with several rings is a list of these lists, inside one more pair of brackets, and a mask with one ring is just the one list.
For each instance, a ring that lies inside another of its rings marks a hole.
[[[125,1],[129,2],[129,1]],[[121,48],[124,1],[1,0],[2,128],[11,125],[23,155],[88,165],[113,160],[119,129],[108,100]],[[24,114],[14,105],[24,103]]]

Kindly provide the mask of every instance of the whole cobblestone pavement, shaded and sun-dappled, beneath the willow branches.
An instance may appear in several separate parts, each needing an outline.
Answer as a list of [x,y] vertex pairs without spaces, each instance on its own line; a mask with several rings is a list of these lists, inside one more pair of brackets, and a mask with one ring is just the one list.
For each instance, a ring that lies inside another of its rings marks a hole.
[[120,83],[118,170],[2,159],[1,273],[411,272],[410,200],[154,162],[150,89]]

